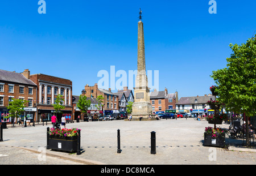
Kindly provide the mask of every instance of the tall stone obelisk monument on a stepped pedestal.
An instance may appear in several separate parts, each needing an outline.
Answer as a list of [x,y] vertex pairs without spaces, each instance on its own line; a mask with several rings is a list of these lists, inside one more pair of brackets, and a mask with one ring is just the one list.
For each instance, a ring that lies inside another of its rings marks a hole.
[[147,87],[147,75],[145,64],[145,50],[144,50],[144,32],[143,23],[141,21],[140,11],[138,22],[138,72],[135,80],[134,88],[134,103],[131,115],[132,120],[137,120],[142,115],[143,119],[147,119],[148,115],[152,117],[152,105],[150,103],[150,88]]

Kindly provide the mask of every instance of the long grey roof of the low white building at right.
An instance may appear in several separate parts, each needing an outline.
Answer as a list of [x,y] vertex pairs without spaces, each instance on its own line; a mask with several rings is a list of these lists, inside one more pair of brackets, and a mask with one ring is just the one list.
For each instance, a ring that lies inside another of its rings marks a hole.
[[[209,101],[210,98],[215,100],[215,96],[181,97],[176,105],[207,104],[207,101]],[[197,100],[197,102],[195,100]]]

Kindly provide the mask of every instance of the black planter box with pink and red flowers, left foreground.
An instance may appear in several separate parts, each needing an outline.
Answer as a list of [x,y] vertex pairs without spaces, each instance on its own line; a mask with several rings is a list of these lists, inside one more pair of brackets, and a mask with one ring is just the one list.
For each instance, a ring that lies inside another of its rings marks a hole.
[[72,137],[58,137],[49,136],[49,149],[66,151],[66,152],[76,152],[77,151],[77,136]]

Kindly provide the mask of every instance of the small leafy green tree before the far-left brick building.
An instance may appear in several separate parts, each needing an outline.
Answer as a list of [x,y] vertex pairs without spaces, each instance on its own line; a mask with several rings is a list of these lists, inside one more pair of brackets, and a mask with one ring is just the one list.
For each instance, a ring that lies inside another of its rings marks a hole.
[[27,100],[20,100],[18,98],[11,98],[11,101],[9,102],[9,106],[7,106],[7,109],[9,109],[9,115],[7,118],[18,118],[20,114],[23,113],[24,109],[26,108]]

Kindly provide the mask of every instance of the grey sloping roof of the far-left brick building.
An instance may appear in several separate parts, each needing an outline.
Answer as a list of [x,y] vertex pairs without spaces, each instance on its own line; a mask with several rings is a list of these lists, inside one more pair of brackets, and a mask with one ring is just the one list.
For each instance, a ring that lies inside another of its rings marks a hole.
[[31,81],[30,79],[27,79],[23,74],[20,74],[18,72],[13,72],[13,71],[0,70],[0,81],[1,80],[12,82],[12,83],[20,83],[20,84],[36,86],[36,84],[33,81]]

